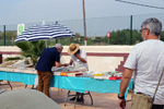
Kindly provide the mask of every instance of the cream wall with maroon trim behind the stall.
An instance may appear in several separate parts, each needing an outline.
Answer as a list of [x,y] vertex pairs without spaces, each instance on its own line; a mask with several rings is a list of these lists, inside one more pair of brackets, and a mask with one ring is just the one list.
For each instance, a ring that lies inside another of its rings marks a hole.
[[[67,53],[68,46],[63,46],[62,63],[70,61],[70,56]],[[90,71],[107,72],[107,71],[124,71],[124,63],[131,51],[132,46],[81,46],[81,49],[87,53],[87,63]],[[8,46],[0,47],[0,52],[20,52],[17,47]],[[15,55],[2,55],[2,58],[14,57]]]

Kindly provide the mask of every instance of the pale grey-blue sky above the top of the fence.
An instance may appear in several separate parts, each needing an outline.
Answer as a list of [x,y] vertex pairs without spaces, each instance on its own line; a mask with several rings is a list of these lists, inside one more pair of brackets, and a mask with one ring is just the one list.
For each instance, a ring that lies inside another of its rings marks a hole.
[[[164,7],[164,0],[125,1]],[[85,0],[86,19],[163,12],[115,0]],[[79,19],[83,19],[82,0],[0,0],[0,25]]]

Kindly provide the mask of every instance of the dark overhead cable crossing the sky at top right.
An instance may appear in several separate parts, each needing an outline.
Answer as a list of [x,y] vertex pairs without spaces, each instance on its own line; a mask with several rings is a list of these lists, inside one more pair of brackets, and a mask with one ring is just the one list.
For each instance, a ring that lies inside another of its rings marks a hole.
[[140,5],[140,7],[147,7],[147,8],[154,8],[154,9],[164,10],[164,8],[153,7],[153,5],[147,5],[147,4],[142,4],[142,3],[129,2],[129,1],[124,1],[124,0],[115,0],[115,1],[124,2],[124,3],[130,3],[130,4],[134,4],[134,5]]

